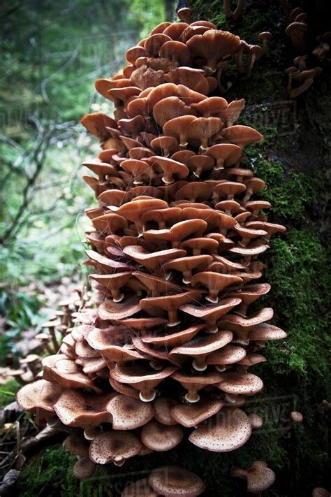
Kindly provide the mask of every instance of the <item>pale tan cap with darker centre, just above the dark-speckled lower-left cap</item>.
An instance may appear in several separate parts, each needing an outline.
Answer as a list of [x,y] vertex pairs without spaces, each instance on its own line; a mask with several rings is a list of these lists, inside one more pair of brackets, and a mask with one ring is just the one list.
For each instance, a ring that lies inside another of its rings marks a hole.
[[117,395],[112,398],[107,409],[112,414],[112,428],[114,430],[134,430],[144,426],[154,416],[154,408],[151,403],[125,395]]

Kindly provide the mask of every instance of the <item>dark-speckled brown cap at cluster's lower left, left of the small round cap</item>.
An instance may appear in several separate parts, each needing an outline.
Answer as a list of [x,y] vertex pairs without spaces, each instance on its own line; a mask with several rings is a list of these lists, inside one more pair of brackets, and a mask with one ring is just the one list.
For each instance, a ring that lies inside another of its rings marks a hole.
[[91,441],[89,457],[96,464],[120,463],[141,448],[140,440],[129,431],[105,431]]

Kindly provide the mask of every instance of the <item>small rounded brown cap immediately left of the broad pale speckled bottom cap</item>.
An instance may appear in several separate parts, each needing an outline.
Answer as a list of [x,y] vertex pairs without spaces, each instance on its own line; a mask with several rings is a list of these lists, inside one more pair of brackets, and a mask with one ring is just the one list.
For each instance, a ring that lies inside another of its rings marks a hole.
[[165,452],[182,441],[183,431],[178,424],[165,425],[152,420],[142,428],[140,437],[142,443],[149,449]]

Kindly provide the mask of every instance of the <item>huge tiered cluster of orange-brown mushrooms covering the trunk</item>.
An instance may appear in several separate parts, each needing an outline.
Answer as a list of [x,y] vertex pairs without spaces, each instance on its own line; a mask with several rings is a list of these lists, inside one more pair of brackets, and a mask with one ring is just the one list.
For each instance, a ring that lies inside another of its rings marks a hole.
[[253,199],[265,183],[241,164],[263,138],[235,124],[244,100],[208,96],[239,50],[209,22],[163,23],[121,73],[96,81],[115,117],[82,118],[102,149],[84,162],[98,200],[85,262],[97,310],[80,313],[43,378],[17,394],[25,410],[77,428],[66,447],[78,477],[184,436],[232,451],[261,426],[240,409],[263,389],[249,368],[286,333],[271,308],[249,306],[270,290],[258,257],[284,226],[267,222],[270,203]]

